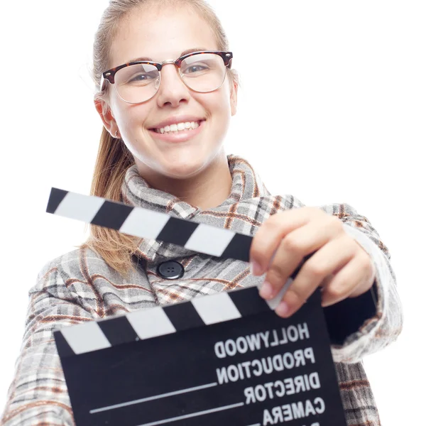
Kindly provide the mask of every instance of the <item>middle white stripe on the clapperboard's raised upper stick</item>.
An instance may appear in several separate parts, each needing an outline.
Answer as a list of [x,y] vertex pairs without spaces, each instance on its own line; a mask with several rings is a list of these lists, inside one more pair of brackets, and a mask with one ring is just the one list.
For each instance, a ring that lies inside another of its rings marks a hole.
[[170,219],[168,214],[135,207],[121,225],[120,232],[141,238],[156,239],[168,219]]

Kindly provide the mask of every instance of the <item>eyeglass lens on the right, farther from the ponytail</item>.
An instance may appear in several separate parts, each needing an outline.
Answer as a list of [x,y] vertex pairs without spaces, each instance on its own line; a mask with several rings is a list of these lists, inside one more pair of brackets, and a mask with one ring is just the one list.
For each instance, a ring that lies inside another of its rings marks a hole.
[[196,92],[212,92],[222,86],[226,67],[219,55],[198,53],[182,61],[180,74],[190,89]]

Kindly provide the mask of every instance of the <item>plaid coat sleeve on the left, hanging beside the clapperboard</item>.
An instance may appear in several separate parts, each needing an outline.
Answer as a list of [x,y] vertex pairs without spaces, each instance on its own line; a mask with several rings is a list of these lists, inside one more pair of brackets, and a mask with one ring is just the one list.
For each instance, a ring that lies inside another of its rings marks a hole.
[[21,353],[0,424],[75,425],[53,331],[94,318],[78,305],[52,264],[40,271],[29,295]]

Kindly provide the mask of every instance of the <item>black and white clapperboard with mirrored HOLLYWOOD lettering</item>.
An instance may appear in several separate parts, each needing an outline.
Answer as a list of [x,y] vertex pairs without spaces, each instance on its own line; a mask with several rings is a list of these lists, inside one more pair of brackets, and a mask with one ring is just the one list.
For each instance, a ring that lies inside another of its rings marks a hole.
[[[53,188],[47,211],[249,261],[251,236],[100,197]],[[274,303],[252,287],[55,331],[77,426],[345,426],[319,290],[289,319]]]

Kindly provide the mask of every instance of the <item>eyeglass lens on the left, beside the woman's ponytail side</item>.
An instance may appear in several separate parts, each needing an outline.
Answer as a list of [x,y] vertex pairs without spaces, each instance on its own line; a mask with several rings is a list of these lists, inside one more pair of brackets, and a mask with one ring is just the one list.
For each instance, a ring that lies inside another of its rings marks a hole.
[[154,96],[159,82],[160,74],[154,65],[137,64],[117,71],[114,86],[121,99],[138,104]]

